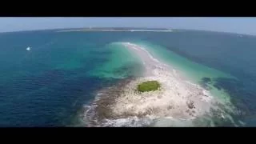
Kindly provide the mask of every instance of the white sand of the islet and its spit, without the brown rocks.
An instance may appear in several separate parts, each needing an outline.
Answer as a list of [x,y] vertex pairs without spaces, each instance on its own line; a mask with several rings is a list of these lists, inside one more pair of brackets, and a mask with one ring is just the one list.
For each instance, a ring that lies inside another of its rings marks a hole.
[[[205,114],[210,110],[214,98],[198,85],[187,82],[176,70],[159,62],[140,46],[123,42],[128,49],[138,54],[145,66],[145,77],[130,82],[124,94],[118,97],[113,113],[117,115],[134,113],[147,114],[154,118],[189,119]],[[139,94],[136,92],[138,83],[157,80],[161,89]]]

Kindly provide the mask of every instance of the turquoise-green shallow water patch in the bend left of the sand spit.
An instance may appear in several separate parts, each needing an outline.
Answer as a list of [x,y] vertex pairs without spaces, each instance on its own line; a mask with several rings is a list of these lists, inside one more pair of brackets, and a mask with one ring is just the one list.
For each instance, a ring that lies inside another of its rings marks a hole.
[[122,44],[112,42],[106,45],[106,49],[112,52],[109,59],[98,66],[91,75],[102,78],[126,78],[142,75],[141,60]]

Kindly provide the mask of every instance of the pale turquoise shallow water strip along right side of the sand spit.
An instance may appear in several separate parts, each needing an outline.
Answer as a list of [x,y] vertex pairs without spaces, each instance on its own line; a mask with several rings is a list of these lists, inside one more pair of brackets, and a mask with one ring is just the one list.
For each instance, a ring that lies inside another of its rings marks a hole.
[[190,82],[202,84],[202,79],[212,79],[212,82],[206,85],[207,87],[211,88],[211,93],[218,98],[221,98],[224,102],[230,102],[230,96],[227,93],[214,87],[214,79],[232,78],[236,80],[237,78],[231,74],[226,74],[220,70],[210,68],[209,66],[201,65],[198,62],[190,61],[188,58],[175,54],[173,51],[167,50],[166,47],[163,46],[158,46],[150,42],[138,42],[138,44],[149,50],[155,58],[158,58],[162,62],[174,67],[175,70],[178,70],[179,74],[185,76],[188,80],[190,80]]

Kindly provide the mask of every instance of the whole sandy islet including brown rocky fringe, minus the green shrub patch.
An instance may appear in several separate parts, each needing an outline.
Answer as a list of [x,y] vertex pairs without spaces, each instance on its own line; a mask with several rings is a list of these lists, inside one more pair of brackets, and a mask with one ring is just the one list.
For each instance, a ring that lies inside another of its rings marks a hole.
[[[146,49],[130,42],[122,42],[127,49],[137,54],[144,64],[142,78],[126,79],[116,86],[100,91],[86,117],[91,126],[158,126],[156,120],[170,119],[190,121],[210,110],[218,110],[218,100],[194,83],[188,82],[171,66],[159,62]],[[140,82],[157,80],[161,89],[138,93]],[[222,112],[221,117],[224,117]],[[161,124],[159,126],[166,126]],[[191,125],[191,124],[190,124]],[[90,126],[90,125],[88,125]]]

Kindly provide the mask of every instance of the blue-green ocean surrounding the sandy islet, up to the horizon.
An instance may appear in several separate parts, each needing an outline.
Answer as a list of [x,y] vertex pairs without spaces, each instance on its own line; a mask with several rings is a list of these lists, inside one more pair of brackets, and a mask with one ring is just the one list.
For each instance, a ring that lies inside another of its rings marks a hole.
[[256,37],[198,30],[0,33],[0,126],[84,126],[98,90],[142,74],[118,42],[145,46],[236,107],[215,126],[256,126]]

